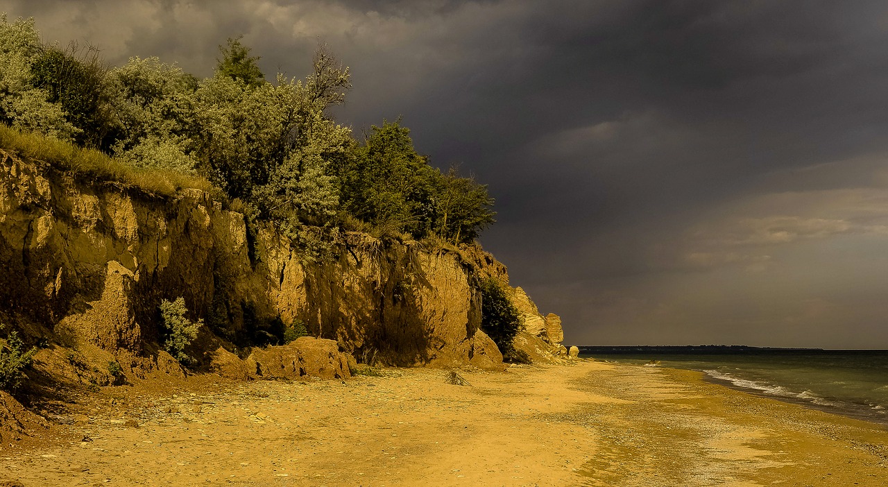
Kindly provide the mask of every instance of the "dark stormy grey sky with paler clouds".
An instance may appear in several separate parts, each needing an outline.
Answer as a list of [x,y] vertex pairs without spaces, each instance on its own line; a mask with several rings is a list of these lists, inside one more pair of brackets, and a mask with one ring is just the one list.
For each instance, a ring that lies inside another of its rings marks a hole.
[[888,4],[6,0],[44,41],[210,76],[325,43],[355,132],[489,185],[481,237],[567,345],[888,348]]

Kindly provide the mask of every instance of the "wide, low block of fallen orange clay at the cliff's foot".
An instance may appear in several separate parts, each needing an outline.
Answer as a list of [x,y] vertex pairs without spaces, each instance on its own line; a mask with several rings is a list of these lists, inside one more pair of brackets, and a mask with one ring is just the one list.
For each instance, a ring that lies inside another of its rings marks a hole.
[[244,362],[263,379],[347,379],[352,377],[348,355],[334,340],[302,337],[287,345],[257,349]]

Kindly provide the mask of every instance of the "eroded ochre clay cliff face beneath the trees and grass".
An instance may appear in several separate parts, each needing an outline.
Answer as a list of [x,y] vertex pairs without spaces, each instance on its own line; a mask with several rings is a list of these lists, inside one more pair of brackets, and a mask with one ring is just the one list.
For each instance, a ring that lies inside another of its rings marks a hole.
[[[158,350],[157,312],[162,299],[181,296],[189,317],[207,323],[195,347],[210,369],[242,352],[233,343],[296,320],[362,362],[503,368],[479,329],[474,283],[508,276],[479,248],[354,233],[336,243],[335,258],[307,262],[274,228],[252,235],[242,214],[202,191],[162,198],[0,151],[0,315],[31,337],[118,361],[136,376],[181,373]],[[528,332],[557,334],[539,318],[542,327],[527,320]]]

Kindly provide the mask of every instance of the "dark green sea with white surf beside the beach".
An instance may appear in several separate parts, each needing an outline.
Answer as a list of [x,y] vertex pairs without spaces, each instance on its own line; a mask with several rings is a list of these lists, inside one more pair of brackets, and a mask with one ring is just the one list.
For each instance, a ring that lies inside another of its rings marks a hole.
[[580,356],[702,371],[713,383],[888,425],[888,350],[580,347]]

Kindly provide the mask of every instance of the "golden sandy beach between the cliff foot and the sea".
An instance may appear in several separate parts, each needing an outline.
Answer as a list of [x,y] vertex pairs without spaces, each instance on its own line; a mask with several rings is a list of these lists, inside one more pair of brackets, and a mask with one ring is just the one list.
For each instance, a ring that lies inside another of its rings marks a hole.
[[[868,485],[888,431],[658,367],[109,387],[0,479],[44,485]],[[79,408],[79,409],[77,409]],[[27,442],[26,442],[27,443]]]

